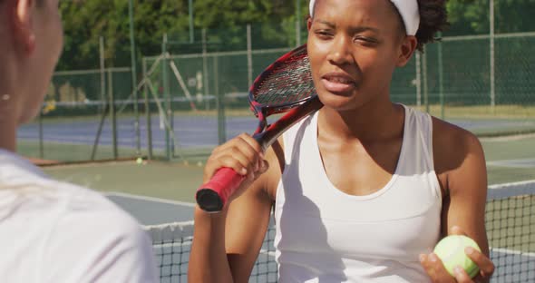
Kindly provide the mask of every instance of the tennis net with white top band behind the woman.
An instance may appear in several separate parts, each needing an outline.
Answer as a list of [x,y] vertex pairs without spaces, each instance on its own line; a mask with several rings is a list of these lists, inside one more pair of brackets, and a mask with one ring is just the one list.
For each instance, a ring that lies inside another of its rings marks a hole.
[[[491,282],[535,282],[535,181],[492,185],[486,228],[496,271]],[[187,282],[193,221],[146,226],[160,268],[160,282]],[[271,225],[249,282],[277,282]]]

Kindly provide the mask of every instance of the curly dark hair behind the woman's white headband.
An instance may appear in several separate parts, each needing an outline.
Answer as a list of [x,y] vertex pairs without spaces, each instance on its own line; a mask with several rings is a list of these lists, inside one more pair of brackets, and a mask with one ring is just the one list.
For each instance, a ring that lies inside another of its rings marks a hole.
[[435,37],[435,34],[443,32],[450,23],[448,23],[446,0],[418,0],[418,10],[420,11],[420,27],[416,32],[416,39],[418,39],[416,49],[423,52],[423,45],[439,39]]

